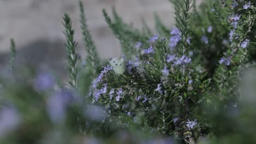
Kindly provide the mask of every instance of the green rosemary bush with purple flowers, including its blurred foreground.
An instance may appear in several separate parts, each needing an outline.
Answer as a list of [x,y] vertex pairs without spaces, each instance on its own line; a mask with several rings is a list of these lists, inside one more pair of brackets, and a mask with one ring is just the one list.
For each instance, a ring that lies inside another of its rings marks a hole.
[[98,57],[79,2],[88,57],[82,67],[64,14],[68,83],[46,71],[15,68],[12,39],[9,71],[0,79],[0,142],[256,141],[256,1],[212,0],[199,8],[192,0],[170,2],[176,25],[166,27],[155,13],[158,35],[144,20],[139,30],[115,8],[113,19],[103,9],[123,52],[116,63],[125,67]]

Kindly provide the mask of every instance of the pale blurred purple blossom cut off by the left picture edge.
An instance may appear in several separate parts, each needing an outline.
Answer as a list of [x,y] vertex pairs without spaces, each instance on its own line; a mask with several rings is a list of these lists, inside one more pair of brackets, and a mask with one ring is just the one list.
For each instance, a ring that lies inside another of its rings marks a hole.
[[4,107],[0,111],[0,136],[14,130],[20,124],[20,116],[15,109]]

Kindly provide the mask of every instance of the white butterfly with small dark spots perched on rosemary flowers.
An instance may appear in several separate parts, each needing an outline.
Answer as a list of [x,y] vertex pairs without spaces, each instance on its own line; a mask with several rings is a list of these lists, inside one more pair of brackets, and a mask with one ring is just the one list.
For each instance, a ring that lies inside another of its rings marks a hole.
[[123,74],[125,71],[125,59],[121,57],[120,59],[113,57],[109,60],[109,63],[112,65],[115,73]]

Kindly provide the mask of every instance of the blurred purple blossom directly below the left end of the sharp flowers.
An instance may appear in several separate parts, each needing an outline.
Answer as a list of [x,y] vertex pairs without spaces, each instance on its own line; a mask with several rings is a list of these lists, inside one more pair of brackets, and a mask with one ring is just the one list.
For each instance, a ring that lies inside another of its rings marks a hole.
[[101,122],[106,117],[106,112],[100,106],[89,105],[85,110],[85,116],[89,117],[92,121]]

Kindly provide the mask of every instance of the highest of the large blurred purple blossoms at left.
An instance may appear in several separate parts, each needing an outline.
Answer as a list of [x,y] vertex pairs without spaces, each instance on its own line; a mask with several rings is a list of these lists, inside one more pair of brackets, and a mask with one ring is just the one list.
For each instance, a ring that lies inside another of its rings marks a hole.
[[55,85],[54,76],[48,73],[39,73],[34,80],[34,87],[39,91],[45,91],[47,89],[53,88]]

